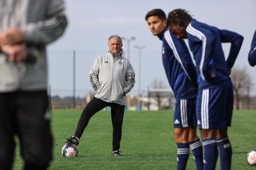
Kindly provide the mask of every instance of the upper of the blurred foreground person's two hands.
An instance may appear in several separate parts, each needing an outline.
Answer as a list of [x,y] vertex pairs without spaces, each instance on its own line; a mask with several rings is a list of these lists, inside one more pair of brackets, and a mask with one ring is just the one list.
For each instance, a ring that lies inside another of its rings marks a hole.
[[0,47],[21,44],[25,40],[25,32],[20,28],[9,28],[0,33]]

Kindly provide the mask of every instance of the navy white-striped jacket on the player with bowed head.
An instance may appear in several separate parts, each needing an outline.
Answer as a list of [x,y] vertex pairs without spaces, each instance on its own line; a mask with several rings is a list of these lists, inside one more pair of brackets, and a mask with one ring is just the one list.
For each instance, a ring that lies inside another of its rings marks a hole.
[[[198,88],[233,87],[229,73],[242,46],[243,37],[195,19],[191,20],[186,32],[196,61]],[[227,61],[221,43],[231,43]],[[211,74],[216,77],[211,78]]]

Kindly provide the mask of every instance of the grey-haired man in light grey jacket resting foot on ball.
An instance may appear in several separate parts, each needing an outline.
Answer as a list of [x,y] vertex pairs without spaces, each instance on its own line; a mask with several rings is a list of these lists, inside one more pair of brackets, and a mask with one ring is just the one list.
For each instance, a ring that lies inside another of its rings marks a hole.
[[119,148],[125,95],[134,86],[135,73],[129,60],[122,56],[122,38],[118,35],[110,36],[108,45],[109,52],[96,58],[89,73],[89,79],[96,94],[84,108],[74,137],[66,139],[65,142],[78,145],[90,118],[101,109],[110,106],[113,125],[113,155],[121,156]]

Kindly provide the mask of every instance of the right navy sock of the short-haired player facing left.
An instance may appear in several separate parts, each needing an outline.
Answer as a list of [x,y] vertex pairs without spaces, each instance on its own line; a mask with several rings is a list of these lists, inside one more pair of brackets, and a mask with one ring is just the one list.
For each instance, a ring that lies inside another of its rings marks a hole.
[[190,147],[191,151],[193,152],[194,160],[196,163],[196,169],[203,170],[204,169],[203,147],[202,147],[201,141],[198,139],[198,140],[189,142],[189,147]]

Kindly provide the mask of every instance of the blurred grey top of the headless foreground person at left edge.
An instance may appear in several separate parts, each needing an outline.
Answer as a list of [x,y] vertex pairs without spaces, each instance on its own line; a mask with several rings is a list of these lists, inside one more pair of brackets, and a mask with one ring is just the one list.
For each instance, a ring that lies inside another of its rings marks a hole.
[[27,50],[38,51],[36,63],[10,63],[0,51],[0,92],[45,90],[45,46],[58,39],[67,26],[62,0],[0,0],[0,32],[18,27],[25,31]]

